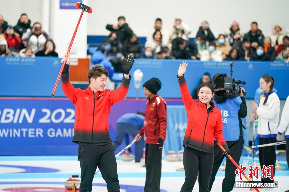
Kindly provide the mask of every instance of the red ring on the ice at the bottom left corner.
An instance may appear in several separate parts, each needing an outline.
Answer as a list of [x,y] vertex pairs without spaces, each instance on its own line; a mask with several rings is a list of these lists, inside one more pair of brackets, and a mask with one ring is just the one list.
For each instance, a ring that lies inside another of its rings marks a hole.
[[68,192],[72,190],[68,190],[65,188],[60,188],[60,187],[15,187],[15,188],[7,188],[7,189],[2,189],[3,191],[14,191],[14,192]]

